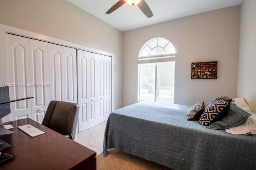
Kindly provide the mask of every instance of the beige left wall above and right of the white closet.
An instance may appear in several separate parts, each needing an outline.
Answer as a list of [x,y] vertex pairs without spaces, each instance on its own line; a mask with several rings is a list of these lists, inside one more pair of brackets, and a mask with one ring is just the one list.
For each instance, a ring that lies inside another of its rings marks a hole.
[[66,0],[0,0],[0,24],[114,53],[114,109],[120,107],[120,30]]

